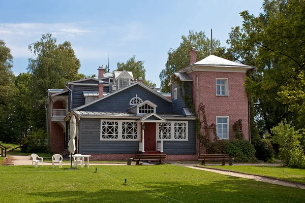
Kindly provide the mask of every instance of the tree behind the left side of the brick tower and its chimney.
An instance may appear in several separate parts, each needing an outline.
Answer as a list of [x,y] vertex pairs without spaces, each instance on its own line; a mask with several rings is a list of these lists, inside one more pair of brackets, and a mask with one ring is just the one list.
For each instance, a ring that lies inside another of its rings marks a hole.
[[[187,37],[181,36],[181,39],[182,42],[178,48],[168,50],[165,69],[159,75],[163,92],[170,92],[170,87],[168,86],[170,76],[190,64],[190,50],[192,47],[198,50],[197,60],[201,60],[210,55],[211,42],[205,36],[204,31],[194,32],[194,30],[189,30],[189,35]],[[215,49],[220,47],[219,40],[213,39],[213,47]]]

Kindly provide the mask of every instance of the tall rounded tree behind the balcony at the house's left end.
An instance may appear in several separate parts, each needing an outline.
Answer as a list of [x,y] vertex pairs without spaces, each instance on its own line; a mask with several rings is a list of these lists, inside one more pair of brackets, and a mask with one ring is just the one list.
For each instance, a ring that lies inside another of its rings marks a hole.
[[42,35],[40,41],[28,46],[36,58],[29,58],[27,70],[32,74],[32,99],[34,125],[45,127],[45,98],[48,89],[61,89],[67,81],[80,79],[80,61],[76,58],[71,43],[56,44],[51,33]]

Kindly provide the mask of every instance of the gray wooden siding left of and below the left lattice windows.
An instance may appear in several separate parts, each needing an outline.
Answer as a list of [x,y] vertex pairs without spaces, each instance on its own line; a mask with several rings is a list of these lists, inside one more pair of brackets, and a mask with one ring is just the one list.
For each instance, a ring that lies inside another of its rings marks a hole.
[[101,119],[82,118],[79,129],[79,153],[132,154],[139,150],[139,141],[100,141]]

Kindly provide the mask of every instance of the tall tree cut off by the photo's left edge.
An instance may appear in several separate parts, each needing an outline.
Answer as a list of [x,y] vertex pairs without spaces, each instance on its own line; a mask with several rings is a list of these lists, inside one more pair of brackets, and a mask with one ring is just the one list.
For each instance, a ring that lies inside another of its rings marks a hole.
[[12,101],[16,93],[12,72],[13,56],[3,40],[0,40],[0,140],[11,143],[15,128],[12,125]]

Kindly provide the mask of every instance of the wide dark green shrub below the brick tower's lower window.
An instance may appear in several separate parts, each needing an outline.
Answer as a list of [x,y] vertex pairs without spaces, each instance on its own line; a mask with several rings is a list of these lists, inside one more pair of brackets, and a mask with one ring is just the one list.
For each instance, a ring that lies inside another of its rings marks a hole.
[[205,147],[207,154],[229,154],[234,162],[257,162],[254,146],[247,140],[217,140]]

